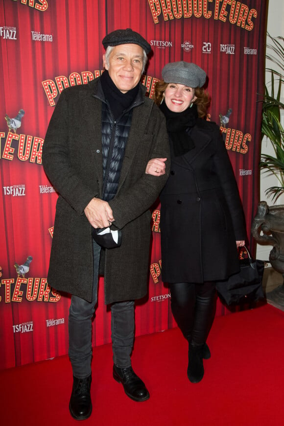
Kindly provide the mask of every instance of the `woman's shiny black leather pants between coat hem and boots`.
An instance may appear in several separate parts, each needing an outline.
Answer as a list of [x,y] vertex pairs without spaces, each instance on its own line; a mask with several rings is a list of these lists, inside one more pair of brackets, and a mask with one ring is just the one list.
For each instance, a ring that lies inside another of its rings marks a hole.
[[171,283],[171,311],[188,341],[196,346],[206,342],[215,311],[215,282]]

